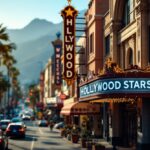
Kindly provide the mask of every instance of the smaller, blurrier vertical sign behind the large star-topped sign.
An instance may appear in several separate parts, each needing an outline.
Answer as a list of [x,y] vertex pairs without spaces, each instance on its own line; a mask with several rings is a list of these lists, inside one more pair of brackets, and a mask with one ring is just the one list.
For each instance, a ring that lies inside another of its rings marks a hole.
[[61,45],[55,46],[55,84],[61,85]]

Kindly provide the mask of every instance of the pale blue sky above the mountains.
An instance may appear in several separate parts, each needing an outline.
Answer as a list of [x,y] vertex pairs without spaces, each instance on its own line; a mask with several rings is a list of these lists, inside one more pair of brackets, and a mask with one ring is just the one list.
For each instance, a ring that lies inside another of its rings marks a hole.
[[[87,9],[88,3],[89,0],[72,0],[77,10]],[[34,18],[58,23],[62,21],[60,11],[67,4],[67,0],[0,0],[0,24],[18,29]]]

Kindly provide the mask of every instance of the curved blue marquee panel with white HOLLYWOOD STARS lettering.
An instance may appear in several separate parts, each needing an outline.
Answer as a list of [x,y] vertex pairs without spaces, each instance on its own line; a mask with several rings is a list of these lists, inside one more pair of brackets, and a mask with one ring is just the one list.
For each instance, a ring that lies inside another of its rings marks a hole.
[[150,78],[96,80],[80,87],[80,98],[103,94],[150,94]]

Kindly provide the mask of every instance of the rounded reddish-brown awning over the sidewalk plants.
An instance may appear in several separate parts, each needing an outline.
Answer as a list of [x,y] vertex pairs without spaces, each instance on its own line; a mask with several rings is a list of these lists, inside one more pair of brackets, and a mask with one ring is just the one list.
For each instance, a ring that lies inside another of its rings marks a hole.
[[98,114],[100,112],[100,107],[97,104],[90,104],[84,102],[74,102],[65,105],[61,109],[62,115],[88,115],[88,114]]

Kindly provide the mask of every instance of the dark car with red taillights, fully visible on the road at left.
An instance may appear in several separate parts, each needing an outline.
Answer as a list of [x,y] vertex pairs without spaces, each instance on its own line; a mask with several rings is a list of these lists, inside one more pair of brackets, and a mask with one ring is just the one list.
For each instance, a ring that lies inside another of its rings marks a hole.
[[6,135],[25,138],[25,128],[21,123],[10,123],[6,129]]

